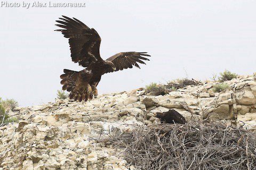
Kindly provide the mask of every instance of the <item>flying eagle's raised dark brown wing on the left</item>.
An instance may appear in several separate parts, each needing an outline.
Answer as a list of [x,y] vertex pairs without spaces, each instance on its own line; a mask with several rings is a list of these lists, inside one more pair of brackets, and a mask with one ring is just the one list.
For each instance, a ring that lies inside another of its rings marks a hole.
[[101,38],[97,31],[90,29],[83,22],[63,16],[56,22],[64,37],[69,38],[72,61],[87,67],[91,62],[103,62],[100,57]]

